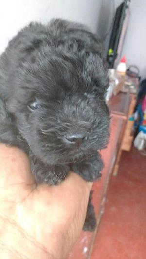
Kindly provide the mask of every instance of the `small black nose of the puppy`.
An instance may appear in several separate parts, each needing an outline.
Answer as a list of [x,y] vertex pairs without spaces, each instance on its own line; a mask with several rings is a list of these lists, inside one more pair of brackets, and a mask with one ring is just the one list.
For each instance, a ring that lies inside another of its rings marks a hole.
[[81,144],[88,139],[88,136],[85,133],[75,133],[75,134],[68,134],[65,136],[67,141],[71,144]]

